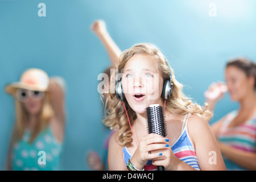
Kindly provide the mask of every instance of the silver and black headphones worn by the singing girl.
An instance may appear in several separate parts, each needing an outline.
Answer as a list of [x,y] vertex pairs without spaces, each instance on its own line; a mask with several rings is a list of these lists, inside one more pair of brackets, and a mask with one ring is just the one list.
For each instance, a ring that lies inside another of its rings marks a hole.
[[[166,60],[166,63],[168,64],[168,67],[170,68],[170,78],[164,80],[164,84],[163,84],[163,90],[161,93],[161,97],[164,98],[164,100],[167,100],[168,97],[172,97],[172,74],[171,74],[171,67],[168,63],[168,61]],[[123,93],[123,88],[122,88],[122,83],[121,83],[121,79],[119,78],[119,72],[117,71],[117,77],[115,80],[115,96],[117,96],[117,98],[121,99],[122,101],[125,100],[125,94]]]

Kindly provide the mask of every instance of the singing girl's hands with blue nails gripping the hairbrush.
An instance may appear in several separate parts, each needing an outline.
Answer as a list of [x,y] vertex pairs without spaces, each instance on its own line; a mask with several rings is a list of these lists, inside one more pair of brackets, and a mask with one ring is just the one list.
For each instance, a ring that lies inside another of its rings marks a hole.
[[174,155],[168,141],[168,139],[163,138],[161,135],[145,135],[131,157],[134,166],[137,169],[143,169],[147,161],[152,160],[153,165],[167,168],[171,162],[170,157]]

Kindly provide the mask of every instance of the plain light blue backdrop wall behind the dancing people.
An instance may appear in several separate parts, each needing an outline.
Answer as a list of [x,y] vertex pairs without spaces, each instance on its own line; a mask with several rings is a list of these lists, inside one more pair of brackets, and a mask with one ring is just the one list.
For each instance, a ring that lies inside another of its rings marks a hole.
[[[45,17],[38,16],[42,2]],[[88,152],[103,155],[108,130],[102,124],[97,76],[110,60],[90,30],[97,19],[105,20],[121,50],[139,42],[158,46],[185,94],[200,105],[212,82],[225,81],[229,59],[256,59],[254,0],[0,0],[0,170],[15,119],[5,85],[31,67],[61,76],[67,84],[63,170],[90,170]],[[211,123],[237,107],[225,94]]]

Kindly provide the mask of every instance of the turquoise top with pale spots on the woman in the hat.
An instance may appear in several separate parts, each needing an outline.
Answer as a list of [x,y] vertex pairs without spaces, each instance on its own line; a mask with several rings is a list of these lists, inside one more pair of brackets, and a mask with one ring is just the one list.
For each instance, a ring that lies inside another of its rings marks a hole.
[[29,143],[30,131],[25,130],[22,139],[16,142],[12,151],[12,167],[15,171],[60,170],[62,144],[56,140],[50,126],[41,131]]

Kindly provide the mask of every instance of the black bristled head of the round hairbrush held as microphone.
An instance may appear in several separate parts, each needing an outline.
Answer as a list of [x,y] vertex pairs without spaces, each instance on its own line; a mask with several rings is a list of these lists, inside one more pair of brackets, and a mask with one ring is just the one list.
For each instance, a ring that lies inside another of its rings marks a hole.
[[166,137],[166,117],[164,107],[158,104],[146,108],[148,134],[155,133]]

